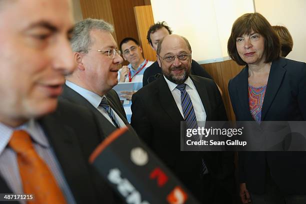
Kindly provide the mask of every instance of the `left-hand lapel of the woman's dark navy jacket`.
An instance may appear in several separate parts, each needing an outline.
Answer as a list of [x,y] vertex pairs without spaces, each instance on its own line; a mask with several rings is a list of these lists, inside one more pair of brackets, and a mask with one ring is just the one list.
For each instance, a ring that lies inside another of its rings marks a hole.
[[248,120],[253,120],[253,117],[249,111],[249,105],[248,105],[248,67],[244,67],[242,69],[241,75],[238,79],[238,97],[239,97],[239,104],[241,112],[245,112],[247,115]]

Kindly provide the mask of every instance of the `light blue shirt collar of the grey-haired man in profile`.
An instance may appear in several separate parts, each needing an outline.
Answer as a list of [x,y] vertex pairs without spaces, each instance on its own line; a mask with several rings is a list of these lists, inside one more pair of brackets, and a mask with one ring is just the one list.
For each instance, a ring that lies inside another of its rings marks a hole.
[[[78,92],[81,96],[83,96],[86,100],[88,100],[95,108],[97,108],[102,100],[102,97],[98,94],[87,90],[85,88],[82,88],[75,83],[72,83],[71,81],[66,80],[66,85]],[[105,97],[103,95],[103,97]]]

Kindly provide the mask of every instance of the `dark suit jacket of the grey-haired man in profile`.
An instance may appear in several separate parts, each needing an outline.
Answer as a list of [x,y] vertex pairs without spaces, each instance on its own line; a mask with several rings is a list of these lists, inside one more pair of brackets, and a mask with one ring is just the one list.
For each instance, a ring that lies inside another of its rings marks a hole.
[[[129,130],[133,133],[133,128],[129,125],[126,115],[123,109],[123,106],[120,102],[119,96],[117,93],[111,89],[106,94],[107,101],[110,107],[119,115],[119,117],[123,120],[123,122],[129,127]],[[96,116],[99,126],[101,128],[101,132],[103,133],[103,137],[105,138],[116,128],[113,124],[111,124],[106,117],[104,117],[99,110],[97,110],[92,104],[86,100],[83,96],[81,96],[78,92],[68,87],[66,84],[63,85],[63,91],[59,98],[66,99],[72,103],[79,104],[90,109],[93,114]]]

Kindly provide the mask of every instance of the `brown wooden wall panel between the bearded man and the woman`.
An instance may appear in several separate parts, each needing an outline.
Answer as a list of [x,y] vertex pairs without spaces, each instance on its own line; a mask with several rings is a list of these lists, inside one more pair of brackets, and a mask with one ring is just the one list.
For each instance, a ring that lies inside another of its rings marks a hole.
[[233,60],[226,60],[215,63],[201,64],[204,69],[211,75],[214,81],[220,86],[223,92],[223,102],[229,120],[235,120],[235,116],[231,107],[230,98],[228,94],[228,81],[233,78],[243,66],[236,64]]

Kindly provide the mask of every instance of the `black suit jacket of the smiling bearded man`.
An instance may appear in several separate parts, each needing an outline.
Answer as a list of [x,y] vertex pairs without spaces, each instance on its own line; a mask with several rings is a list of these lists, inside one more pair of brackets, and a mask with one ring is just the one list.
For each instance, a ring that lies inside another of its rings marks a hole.
[[[190,78],[205,108],[206,120],[227,120],[216,84],[200,76],[191,75]],[[201,190],[202,180],[199,175],[202,157],[214,179],[213,185],[222,183],[220,185],[225,186],[223,181],[233,171],[231,153],[180,151],[180,121],[184,119],[163,76],[133,94],[131,109],[131,125],[139,137],[198,199],[202,199],[205,193]],[[204,185],[209,188],[207,183]],[[220,194],[223,189],[218,188]]]

